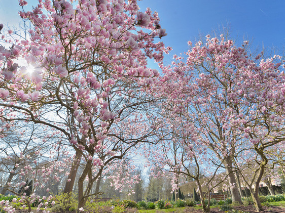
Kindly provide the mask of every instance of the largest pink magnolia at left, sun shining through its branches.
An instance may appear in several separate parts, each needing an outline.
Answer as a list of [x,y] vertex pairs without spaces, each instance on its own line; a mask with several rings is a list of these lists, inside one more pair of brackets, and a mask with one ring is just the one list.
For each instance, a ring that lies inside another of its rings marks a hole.
[[[1,118],[48,126],[69,141],[76,161],[85,162],[82,209],[103,169],[155,133],[145,88],[158,72],[147,68],[147,58],[160,62],[169,51],[155,42],[166,33],[157,13],[139,12],[136,1],[45,0],[31,12],[19,3],[32,29],[29,39],[0,49]],[[27,65],[19,67],[16,57]],[[69,175],[75,179],[76,172]]]

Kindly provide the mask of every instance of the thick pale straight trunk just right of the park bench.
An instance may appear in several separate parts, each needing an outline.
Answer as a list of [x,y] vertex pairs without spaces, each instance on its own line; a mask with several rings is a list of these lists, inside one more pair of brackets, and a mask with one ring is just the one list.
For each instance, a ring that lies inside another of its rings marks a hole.
[[233,163],[232,163],[231,156],[226,157],[224,162],[225,162],[225,166],[226,166],[227,175],[229,177],[229,186],[230,186],[232,201],[238,202],[239,204],[242,204],[239,191],[236,187],[237,184],[236,184],[235,175],[234,175],[233,169],[232,169]]

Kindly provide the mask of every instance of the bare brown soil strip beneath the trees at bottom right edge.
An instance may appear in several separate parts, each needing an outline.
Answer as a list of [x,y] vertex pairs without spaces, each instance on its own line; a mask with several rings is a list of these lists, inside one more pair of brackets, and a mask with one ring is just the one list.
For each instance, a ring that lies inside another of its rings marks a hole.
[[[234,206],[233,209],[242,210],[242,211],[249,212],[249,213],[256,213],[257,212],[254,205]],[[202,213],[204,211],[203,211],[203,209],[187,208],[187,210],[185,210],[185,212],[187,212],[187,213]],[[225,212],[225,211],[220,211],[219,207],[210,208],[210,213],[223,213],[223,212]],[[265,212],[285,213],[285,208],[278,207],[278,206],[270,206],[270,207],[263,206],[263,211],[260,211],[260,213],[265,213]]]

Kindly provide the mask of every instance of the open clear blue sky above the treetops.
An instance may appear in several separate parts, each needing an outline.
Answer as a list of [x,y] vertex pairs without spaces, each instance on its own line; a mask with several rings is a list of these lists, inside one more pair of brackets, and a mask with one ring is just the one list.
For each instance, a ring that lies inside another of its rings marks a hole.
[[[29,7],[37,0],[26,0]],[[282,49],[285,47],[284,0],[142,0],[142,11],[147,7],[157,11],[162,28],[168,35],[161,40],[173,51],[166,56],[188,50],[187,41],[195,40],[199,33],[230,25],[233,38],[253,39],[253,47]],[[18,0],[0,0],[0,22],[10,26],[19,22]]]

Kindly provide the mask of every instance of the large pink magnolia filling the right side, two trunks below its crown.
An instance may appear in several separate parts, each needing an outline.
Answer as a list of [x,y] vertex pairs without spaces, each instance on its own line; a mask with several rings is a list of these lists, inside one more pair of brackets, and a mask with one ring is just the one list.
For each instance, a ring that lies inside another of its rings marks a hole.
[[241,150],[253,150],[259,167],[252,196],[261,210],[258,186],[267,164],[264,151],[283,141],[284,75],[280,61],[274,62],[278,57],[252,59],[246,45],[238,48],[223,35],[207,36],[205,44],[198,41],[186,53],[186,62],[174,56],[172,66],[162,66],[166,74],[161,82],[170,84],[158,82],[158,87],[173,103],[172,111],[187,117],[190,130],[199,132],[202,143],[223,162],[233,201],[241,203],[234,159]]

